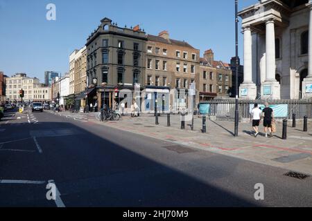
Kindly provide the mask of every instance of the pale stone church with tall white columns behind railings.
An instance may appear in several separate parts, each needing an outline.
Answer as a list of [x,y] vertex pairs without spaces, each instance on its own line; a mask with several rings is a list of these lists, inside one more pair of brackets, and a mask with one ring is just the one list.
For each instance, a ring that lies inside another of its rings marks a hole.
[[259,0],[239,16],[244,47],[240,98],[311,98],[312,1]]

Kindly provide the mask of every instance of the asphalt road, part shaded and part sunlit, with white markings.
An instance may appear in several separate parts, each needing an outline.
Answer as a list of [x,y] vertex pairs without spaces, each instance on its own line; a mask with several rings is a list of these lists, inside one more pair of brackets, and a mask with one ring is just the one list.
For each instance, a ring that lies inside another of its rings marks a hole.
[[0,206],[312,206],[286,172],[46,112],[0,122]]

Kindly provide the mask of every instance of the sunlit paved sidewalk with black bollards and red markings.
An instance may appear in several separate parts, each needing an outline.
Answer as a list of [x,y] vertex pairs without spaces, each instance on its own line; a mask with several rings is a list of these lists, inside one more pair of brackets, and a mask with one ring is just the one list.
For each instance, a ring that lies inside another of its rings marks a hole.
[[[251,125],[248,123],[239,125],[239,137],[232,135],[234,122],[207,120],[207,133],[201,133],[202,119],[198,116],[194,119],[194,131],[187,126],[191,122],[185,122],[185,130],[180,129],[179,115],[171,115],[171,127],[166,126],[166,115],[159,117],[158,126],[155,126],[153,115],[141,115],[136,118],[125,116],[118,122],[98,122],[95,117],[91,117],[89,122],[170,141],[178,146],[191,146],[312,175],[311,122],[308,133],[302,132],[302,122],[297,122],[297,128],[288,126],[287,140],[281,140],[280,123],[277,124],[277,133],[274,137],[266,138],[262,134],[255,138],[250,133]],[[260,130],[263,131],[262,126]]]

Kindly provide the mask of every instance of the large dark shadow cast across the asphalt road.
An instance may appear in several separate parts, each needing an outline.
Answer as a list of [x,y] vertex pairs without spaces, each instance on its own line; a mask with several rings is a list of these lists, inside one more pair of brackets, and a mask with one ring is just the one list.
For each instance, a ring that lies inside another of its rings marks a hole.
[[[105,129],[101,128],[103,133]],[[43,153],[1,153],[0,178],[55,180],[66,206],[257,206],[75,124],[42,122],[25,125],[23,130],[37,134]],[[28,147],[36,150],[35,144]],[[36,196],[23,195],[34,191],[15,195],[10,190],[14,184],[0,184],[0,206],[45,205],[42,189]]]

